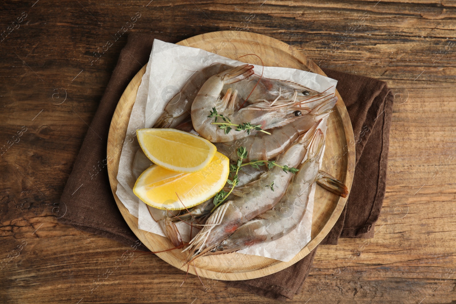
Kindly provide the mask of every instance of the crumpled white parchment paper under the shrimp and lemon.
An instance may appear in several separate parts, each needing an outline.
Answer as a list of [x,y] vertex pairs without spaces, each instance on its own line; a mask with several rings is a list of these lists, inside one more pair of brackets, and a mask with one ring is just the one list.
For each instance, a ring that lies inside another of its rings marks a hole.
[[[240,54],[241,56],[244,54]],[[214,62],[229,65],[240,65],[239,62],[202,49],[179,46],[155,39],[150,54],[146,72],[138,89],[133,106],[127,134],[123,143],[119,161],[118,185],[116,194],[130,213],[138,217],[138,227],[151,233],[165,236],[160,225],[150,215],[147,205],[133,194],[133,186],[140,172],[150,164],[141,156],[136,129],[151,128],[160,117],[168,101],[179,92],[193,73],[209,66]],[[254,71],[260,75],[262,66],[254,65]],[[263,77],[298,82],[303,86],[327,93],[334,93],[337,81],[319,74],[285,67],[264,67]],[[311,104],[309,104],[311,106]],[[326,119],[321,123],[321,129],[326,135]],[[239,251],[245,254],[259,255],[281,261],[289,261],[311,239],[311,221],[314,205],[316,183],[312,185],[311,199],[306,214],[298,227],[279,240],[265,244],[256,244]],[[176,224],[181,237],[188,241],[188,225]]]

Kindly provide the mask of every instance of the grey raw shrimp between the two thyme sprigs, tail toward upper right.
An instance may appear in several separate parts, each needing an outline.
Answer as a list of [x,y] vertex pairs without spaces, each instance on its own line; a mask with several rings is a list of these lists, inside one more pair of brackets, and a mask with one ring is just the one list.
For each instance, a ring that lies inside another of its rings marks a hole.
[[270,160],[280,155],[298,138],[307,132],[319,119],[331,112],[337,102],[337,97],[328,99],[321,106],[315,108],[311,115],[302,116],[301,111],[296,110],[295,116],[301,116],[285,126],[271,129],[269,134],[258,132],[242,139],[227,143],[215,143],[217,151],[226,155],[230,160],[237,160],[237,149],[244,146],[249,151],[245,161]]

